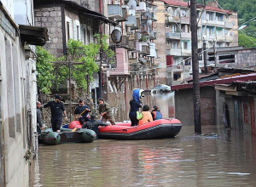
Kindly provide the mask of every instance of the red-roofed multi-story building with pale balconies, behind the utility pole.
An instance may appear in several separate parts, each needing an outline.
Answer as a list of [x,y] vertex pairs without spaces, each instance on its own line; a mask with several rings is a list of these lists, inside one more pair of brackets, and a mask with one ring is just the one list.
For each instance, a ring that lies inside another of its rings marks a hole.
[[[154,4],[158,7],[155,30],[161,32],[156,42],[159,58],[155,59],[155,63],[161,67],[160,77],[167,77],[167,84],[177,84],[189,77],[192,70],[188,2],[156,0]],[[205,8],[197,9],[197,20],[199,51],[202,51],[203,42],[206,42],[207,48],[238,45],[236,13],[218,8],[218,3],[214,1]],[[162,41],[166,41],[166,44],[163,45]],[[202,67],[202,58],[199,63]]]

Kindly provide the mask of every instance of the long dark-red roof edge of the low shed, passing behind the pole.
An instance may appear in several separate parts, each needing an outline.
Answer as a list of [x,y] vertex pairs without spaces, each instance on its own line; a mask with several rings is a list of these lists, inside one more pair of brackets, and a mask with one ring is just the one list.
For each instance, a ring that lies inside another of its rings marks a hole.
[[[237,81],[247,82],[247,81],[254,81],[254,80],[256,80],[256,73],[251,73],[251,74],[241,75],[236,77],[227,77],[222,79],[200,82],[200,87],[214,86],[215,84],[228,84],[228,83],[237,82]],[[179,90],[179,89],[187,89],[187,88],[193,88],[193,83],[171,86],[172,91]]]

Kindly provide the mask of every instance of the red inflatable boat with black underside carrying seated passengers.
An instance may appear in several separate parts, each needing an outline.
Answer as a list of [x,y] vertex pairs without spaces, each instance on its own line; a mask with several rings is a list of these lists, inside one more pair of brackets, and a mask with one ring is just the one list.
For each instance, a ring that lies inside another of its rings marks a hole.
[[[82,127],[73,121],[68,128]],[[116,122],[116,125],[99,127],[99,139],[166,139],[175,137],[182,128],[179,120],[160,119],[131,127],[131,122]]]

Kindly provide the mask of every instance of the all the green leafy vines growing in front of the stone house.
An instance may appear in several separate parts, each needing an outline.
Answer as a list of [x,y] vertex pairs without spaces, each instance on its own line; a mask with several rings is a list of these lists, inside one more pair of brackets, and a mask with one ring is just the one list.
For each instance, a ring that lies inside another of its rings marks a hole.
[[[113,51],[108,48],[108,36],[96,34],[96,43],[84,45],[83,42],[70,39],[67,42],[67,56],[55,59],[44,48],[37,48],[38,54],[38,87],[45,94],[50,93],[50,88],[58,90],[66,88],[66,80],[69,79],[69,65],[67,63],[49,63],[54,61],[70,61],[73,64],[70,68],[72,81],[76,82],[77,88],[86,89],[88,82],[93,81],[93,73],[98,71],[99,65],[96,57],[102,47],[102,53],[109,59],[113,58]],[[111,61],[113,63],[113,61]],[[88,81],[88,82],[87,82]]]

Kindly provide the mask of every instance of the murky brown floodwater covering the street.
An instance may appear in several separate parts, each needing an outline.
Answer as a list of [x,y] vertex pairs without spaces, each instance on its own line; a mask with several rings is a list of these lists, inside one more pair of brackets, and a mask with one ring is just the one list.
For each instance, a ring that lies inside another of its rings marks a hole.
[[[170,116],[173,95],[163,97]],[[195,137],[191,124],[174,139],[39,145],[32,186],[256,186],[254,136],[216,126],[202,133]]]

